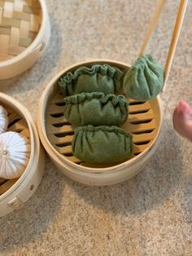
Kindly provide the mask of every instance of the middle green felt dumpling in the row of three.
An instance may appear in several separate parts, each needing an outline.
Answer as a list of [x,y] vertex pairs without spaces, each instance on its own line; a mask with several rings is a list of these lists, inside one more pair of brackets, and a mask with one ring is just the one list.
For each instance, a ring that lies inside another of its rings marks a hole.
[[64,117],[73,126],[120,126],[128,116],[124,95],[82,92],[64,98]]

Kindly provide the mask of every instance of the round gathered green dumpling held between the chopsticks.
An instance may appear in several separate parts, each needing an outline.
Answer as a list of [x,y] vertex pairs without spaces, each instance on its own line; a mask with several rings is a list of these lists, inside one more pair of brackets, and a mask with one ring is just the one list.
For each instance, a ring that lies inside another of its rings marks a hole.
[[124,76],[124,94],[138,100],[149,100],[159,95],[164,84],[164,67],[143,55]]

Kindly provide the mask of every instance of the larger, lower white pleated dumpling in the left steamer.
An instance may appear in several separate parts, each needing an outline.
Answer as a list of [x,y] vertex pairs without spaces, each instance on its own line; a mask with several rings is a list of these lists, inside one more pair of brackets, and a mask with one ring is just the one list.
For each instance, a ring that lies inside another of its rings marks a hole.
[[30,156],[26,137],[14,131],[0,135],[0,177],[16,179],[23,174]]

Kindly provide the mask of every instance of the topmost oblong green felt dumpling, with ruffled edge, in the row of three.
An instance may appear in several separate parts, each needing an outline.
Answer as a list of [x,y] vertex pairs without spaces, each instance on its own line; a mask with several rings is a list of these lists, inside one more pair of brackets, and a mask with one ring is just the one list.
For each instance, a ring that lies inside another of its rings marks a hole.
[[59,78],[59,86],[64,96],[81,92],[100,91],[105,95],[115,94],[122,87],[123,72],[108,64],[95,64],[91,68],[77,68]]

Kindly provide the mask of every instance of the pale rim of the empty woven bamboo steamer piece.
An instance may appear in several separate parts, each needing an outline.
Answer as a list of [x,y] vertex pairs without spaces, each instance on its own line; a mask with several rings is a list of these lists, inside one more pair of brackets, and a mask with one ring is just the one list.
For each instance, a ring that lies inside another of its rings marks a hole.
[[24,51],[22,51],[19,55],[14,56],[10,60],[0,61],[0,68],[8,66],[10,64],[14,64],[15,62],[19,62],[20,60],[24,59],[24,57],[31,52],[34,51],[34,49],[37,47],[38,42],[40,42],[41,35],[45,31],[46,22],[47,22],[47,9],[46,9],[46,1],[45,0],[38,0],[41,6],[41,26],[37,33],[37,37],[33,40],[33,42],[26,48]]

